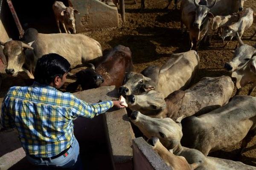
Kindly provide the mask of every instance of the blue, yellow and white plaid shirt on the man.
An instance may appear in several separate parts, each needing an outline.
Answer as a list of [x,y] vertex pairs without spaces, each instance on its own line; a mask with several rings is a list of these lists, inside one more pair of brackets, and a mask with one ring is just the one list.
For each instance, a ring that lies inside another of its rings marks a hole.
[[88,104],[70,93],[34,82],[12,87],[2,105],[3,127],[17,127],[27,154],[52,157],[73,142],[73,118],[93,118],[113,107],[112,101]]

